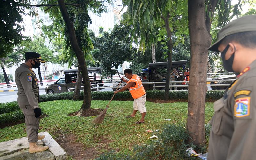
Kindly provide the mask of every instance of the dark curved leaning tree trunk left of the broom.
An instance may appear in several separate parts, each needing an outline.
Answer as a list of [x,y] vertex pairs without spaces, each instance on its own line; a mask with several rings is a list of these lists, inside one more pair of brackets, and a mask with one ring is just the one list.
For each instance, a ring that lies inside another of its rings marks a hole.
[[70,40],[71,46],[76,54],[76,58],[80,64],[80,66],[81,66],[83,84],[84,84],[84,101],[83,101],[83,104],[82,104],[79,112],[77,113],[77,116],[81,116],[82,112],[85,111],[85,109],[90,109],[91,99],[92,99],[87,64],[85,61],[84,53],[82,52],[82,50],[79,47],[79,44],[77,42],[74,25],[70,20],[67,8],[64,4],[64,0],[58,0],[58,3],[60,6],[60,12],[62,14],[63,20],[65,21],[66,27],[68,29],[68,35],[69,35],[69,40]]

